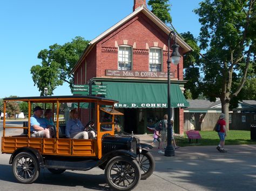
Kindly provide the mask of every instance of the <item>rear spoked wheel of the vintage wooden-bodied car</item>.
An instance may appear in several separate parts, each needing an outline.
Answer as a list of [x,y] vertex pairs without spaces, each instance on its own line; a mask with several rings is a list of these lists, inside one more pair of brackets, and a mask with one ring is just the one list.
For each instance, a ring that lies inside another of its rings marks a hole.
[[38,160],[30,152],[21,152],[12,162],[12,172],[18,182],[32,183],[37,180],[40,172]]

